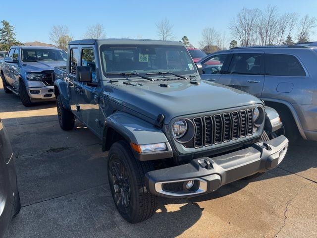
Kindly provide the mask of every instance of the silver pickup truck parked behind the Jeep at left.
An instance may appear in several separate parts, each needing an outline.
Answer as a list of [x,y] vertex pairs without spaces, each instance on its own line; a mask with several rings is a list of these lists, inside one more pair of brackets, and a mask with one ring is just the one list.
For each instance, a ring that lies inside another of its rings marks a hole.
[[53,69],[65,65],[66,57],[63,50],[54,47],[11,47],[4,62],[0,62],[4,91],[19,95],[26,107],[38,101],[54,101]]

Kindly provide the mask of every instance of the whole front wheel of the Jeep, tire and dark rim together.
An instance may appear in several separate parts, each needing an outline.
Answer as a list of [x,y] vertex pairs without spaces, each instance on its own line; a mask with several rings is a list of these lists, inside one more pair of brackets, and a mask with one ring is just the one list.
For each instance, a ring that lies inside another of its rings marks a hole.
[[157,197],[150,193],[144,181],[153,163],[134,158],[125,141],[113,143],[108,154],[108,180],[113,201],[120,215],[130,223],[150,218],[156,210]]

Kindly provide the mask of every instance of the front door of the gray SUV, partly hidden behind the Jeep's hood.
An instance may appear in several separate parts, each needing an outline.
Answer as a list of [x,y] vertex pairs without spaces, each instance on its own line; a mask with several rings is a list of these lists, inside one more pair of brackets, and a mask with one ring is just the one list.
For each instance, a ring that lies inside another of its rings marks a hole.
[[216,54],[201,62],[203,66],[203,74],[201,78],[211,82],[218,82],[220,74],[228,65],[230,54]]

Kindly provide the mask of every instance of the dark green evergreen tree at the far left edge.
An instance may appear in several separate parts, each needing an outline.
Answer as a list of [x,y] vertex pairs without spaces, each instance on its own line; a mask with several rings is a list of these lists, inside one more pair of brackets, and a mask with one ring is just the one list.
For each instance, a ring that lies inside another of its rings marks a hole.
[[0,28],[0,49],[8,51],[11,46],[23,45],[15,39],[14,27],[9,22],[1,21],[2,28]]

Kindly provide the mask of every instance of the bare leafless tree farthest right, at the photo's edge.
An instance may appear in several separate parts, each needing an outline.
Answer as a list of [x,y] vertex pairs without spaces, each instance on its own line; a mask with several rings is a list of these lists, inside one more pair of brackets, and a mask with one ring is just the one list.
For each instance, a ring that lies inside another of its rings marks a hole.
[[317,20],[315,16],[305,15],[300,20],[297,26],[297,39],[299,43],[309,40],[310,34],[313,33],[314,28],[317,26]]

